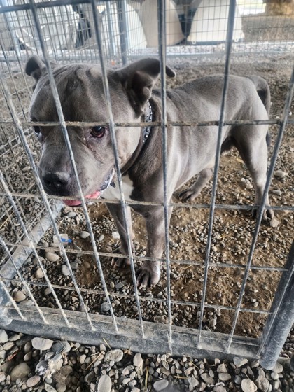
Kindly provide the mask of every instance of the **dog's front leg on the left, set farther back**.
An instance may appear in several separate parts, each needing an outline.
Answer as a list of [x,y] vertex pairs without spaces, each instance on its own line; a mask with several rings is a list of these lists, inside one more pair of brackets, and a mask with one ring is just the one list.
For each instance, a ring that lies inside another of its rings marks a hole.
[[[127,248],[127,232],[125,230],[125,222],[123,218],[123,210],[120,204],[112,204],[112,203],[106,203],[106,207],[113,216],[114,222],[116,223],[116,228],[118,229],[118,234],[120,235],[120,247],[116,249],[113,253],[121,253],[123,255],[127,255],[128,248]],[[134,245],[133,245],[133,232],[132,232],[132,216],[131,216],[131,208],[126,206],[126,212],[127,212],[127,223],[128,223],[128,229],[131,237],[131,245],[132,245],[132,250],[134,250]],[[120,258],[120,257],[113,257],[111,264],[114,267],[126,267],[127,265],[130,265],[130,259],[129,258]]]

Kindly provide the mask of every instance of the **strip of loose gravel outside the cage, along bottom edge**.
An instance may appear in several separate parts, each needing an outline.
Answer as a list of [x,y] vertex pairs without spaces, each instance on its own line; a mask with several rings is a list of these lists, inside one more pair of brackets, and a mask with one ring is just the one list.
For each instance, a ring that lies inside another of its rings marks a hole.
[[86,346],[4,330],[0,363],[3,392],[294,391],[294,363],[285,361],[268,371],[240,357],[141,355],[111,349],[106,341]]

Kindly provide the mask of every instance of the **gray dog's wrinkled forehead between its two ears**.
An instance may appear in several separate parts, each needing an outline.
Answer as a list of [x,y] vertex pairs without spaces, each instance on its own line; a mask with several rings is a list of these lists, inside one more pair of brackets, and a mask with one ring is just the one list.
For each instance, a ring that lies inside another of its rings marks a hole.
[[[95,120],[97,109],[106,111],[99,66],[71,64],[52,69],[65,120]],[[97,97],[99,108],[97,108]],[[57,120],[57,109],[47,71],[36,83],[30,106],[31,118]],[[92,112],[92,113],[91,113]]]

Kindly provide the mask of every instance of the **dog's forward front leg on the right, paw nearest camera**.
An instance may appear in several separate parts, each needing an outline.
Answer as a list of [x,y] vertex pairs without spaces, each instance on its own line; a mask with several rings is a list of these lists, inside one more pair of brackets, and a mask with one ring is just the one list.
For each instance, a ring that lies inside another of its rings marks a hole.
[[[169,220],[172,215],[172,207],[169,207]],[[147,251],[146,258],[155,260],[145,260],[137,269],[137,286],[146,287],[155,285],[160,280],[160,262],[165,248],[165,214],[163,207],[149,207],[144,214],[147,230]],[[168,222],[169,226],[169,222]]]

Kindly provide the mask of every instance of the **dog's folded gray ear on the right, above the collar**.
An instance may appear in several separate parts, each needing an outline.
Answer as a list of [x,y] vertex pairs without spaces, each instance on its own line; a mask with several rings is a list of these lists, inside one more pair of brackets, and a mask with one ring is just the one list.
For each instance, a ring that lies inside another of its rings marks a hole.
[[[172,78],[176,76],[169,66],[165,67],[165,71],[167,76]],[[158,80],[160,61],[151,58],[141,59],[115,73],[125,87],[134,111],[139,116],[143,112],[147,100],[151,97],[156,80]]]

